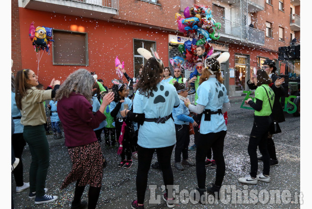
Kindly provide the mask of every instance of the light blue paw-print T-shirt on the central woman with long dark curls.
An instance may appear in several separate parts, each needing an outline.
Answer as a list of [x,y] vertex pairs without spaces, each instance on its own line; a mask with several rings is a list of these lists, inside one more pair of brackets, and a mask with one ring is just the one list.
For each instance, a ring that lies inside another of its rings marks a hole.
[[[158,83],[147,97],[137,90],[133,100],[133,112],[144,113],[146,119],[163,118],[172,113],[173,107],[178,107],[180,99],[175,88],[169,83]],[[143,148],[163,148],[174,145],[175,127],[170,118],[165,123],[144,121],[140,125],[138,145]]]

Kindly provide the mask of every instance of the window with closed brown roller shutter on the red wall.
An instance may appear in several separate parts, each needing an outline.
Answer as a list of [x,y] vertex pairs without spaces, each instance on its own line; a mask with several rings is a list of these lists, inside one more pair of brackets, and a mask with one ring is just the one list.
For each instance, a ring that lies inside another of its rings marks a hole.
[[53,39],[54,65],[89,64],[87,33],[54,29]]

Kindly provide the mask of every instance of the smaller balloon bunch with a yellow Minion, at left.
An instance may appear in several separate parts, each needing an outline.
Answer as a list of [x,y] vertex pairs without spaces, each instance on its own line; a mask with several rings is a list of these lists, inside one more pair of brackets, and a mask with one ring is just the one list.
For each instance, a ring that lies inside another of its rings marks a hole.
[[33,26],[34,22],[30,24],[29,27],[29,38],[32,41],[33,48],[36,52],[44,50],[50,55],[50,46],[52,45],[53,37],[52,30],[53,28],[48,27],[37,27]]

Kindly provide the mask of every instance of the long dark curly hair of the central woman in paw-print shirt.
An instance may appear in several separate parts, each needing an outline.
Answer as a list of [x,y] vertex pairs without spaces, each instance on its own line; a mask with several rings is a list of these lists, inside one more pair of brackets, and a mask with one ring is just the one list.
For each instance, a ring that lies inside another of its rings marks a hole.
[[164,69],[155,58],[147,60],[143,66],[140,80],[137,83],[137,88],[140,94],[144,94],[149,97],[150,92],[156,88],[157,84],[161,81],[160,74]]

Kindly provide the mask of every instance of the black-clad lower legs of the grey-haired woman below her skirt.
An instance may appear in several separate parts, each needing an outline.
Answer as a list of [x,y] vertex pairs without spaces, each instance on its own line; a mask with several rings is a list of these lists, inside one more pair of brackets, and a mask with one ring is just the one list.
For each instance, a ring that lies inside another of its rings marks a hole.
[[[84,193],[85,186],[78,186],[80,180],[77,180],[75,187],[75,195],[74,200],[72,202],[72,206],[79,205],[81,203],[81,196]],[[101,187],[89,187],[88,192],[88,209],[95,209],[97,201],[100,196]]]

